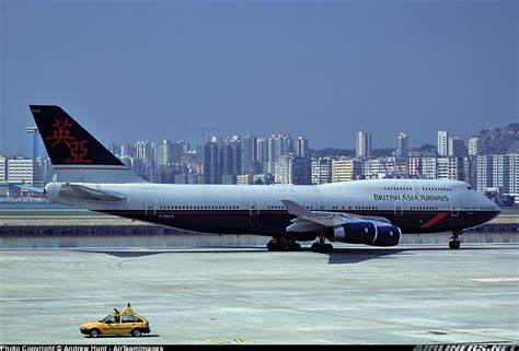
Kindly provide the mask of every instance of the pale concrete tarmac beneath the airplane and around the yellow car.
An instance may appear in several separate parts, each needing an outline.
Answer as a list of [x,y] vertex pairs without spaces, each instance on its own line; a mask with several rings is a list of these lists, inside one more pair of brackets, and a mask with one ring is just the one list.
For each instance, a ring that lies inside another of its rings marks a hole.
[[[519,245],[0,250],[1,343],[519,342]],[[123,308],[148,337],[90,339]]]

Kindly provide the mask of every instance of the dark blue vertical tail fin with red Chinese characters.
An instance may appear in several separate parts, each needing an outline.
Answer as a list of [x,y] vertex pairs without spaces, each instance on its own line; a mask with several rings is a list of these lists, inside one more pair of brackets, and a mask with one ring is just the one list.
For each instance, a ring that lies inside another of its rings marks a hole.
[[30,105],[58,182],[145,182],[61,107]]

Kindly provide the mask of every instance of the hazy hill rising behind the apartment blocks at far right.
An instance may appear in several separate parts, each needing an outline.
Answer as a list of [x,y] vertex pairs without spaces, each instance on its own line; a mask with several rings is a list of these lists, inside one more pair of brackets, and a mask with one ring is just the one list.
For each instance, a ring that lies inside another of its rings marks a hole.
[[519,152],[519,124],[509,124],[492,131],[483,129],[474,137],[480,138],[482,154],[499,155]]

